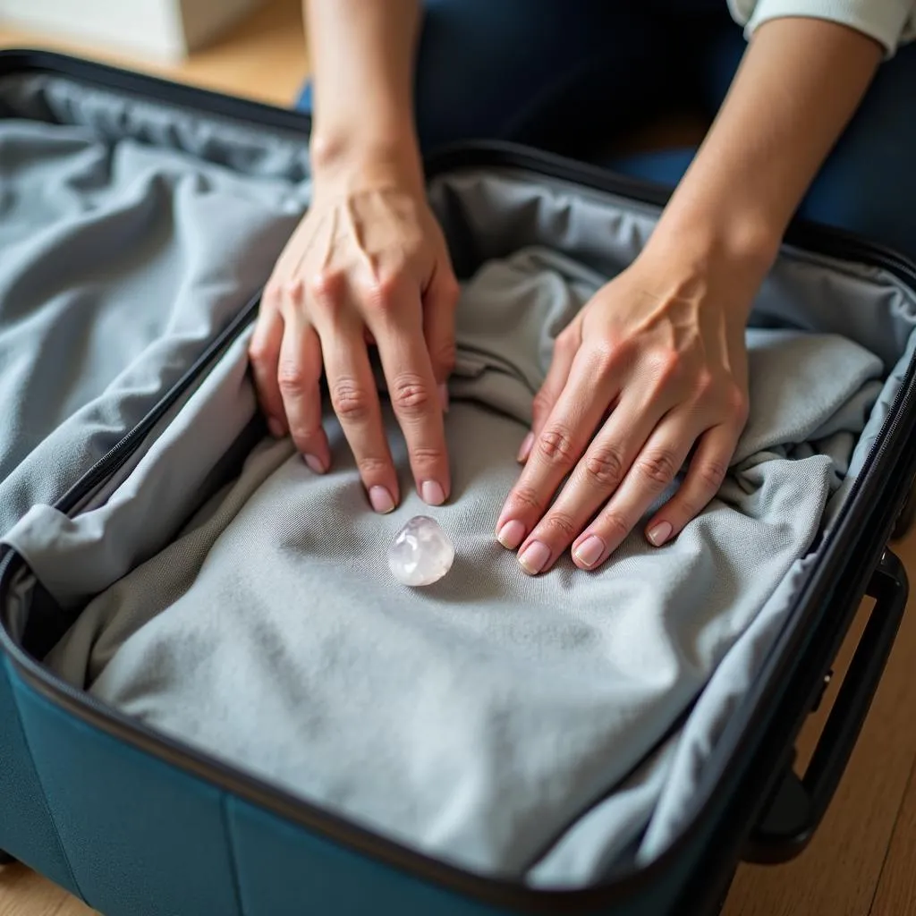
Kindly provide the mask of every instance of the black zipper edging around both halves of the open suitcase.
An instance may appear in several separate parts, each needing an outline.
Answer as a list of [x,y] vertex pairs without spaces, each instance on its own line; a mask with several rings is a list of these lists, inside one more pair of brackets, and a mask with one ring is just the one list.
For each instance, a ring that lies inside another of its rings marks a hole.
[[[308,124],[308,119],[300,114],[177,86],[152,77],[127,73],[62,55],[45,52],[0,52],[0,75],[22,72],[25,69],[71,76],[107,89],[139,93],[160,102],[183,104],[201,109],[205,114],[225,114],[248,123],[255,122],[280,128],[304,127]],[[628,201],[658,207],[663,206],[670,195],[669,190],[657,185],[507,143],[486,142],[448,147],[427,158],[426,165],[428,180],[456,169],[506,168],[522,170],[553,180],[567,180]],[[916,290],[916,264],[888,248],[874,245],[853,234],[795,221],[785,235],[785,242],[815,254],[853,260],[865,266],[885,269]],[[130,457],[156,422],[187,388],[213,365],[213,361],[224,353],[226,347],[244,331],[245,326],[253,321],[258,301],[257,298],[249,301],[172,390],[158,402],[147,418],[60,497],[56,504],[60,511],[68,512],[79,505],[85,496]],[[799,604],[804,609],[802,615],[796,626],[787,627],[780,634],[777,646],[769,654],[767,671],[758,677],[755,686],[748,692],[745,705],[750,707],[750,712],[747,717],[737,721],[733,715],[731,723],[726,726],[725,734],[719,741],[720,747],[706,770],[708,778],[704,781],[707,784],[702,791],[694,793],[697,801],[682,833],[649,864],[643,867],[631,864],[618,867],[605,880],[588,888],[536,890],[514,880],[480,877],[322,811],[319,807],[248,776],[216,758],[186,747],[169,736],[159,735],[146,725],[99,702],[91,694],[61,681],[16,644],[7,630],[7,622],[2,615],[0,648],[12,660],[18,674],[33,689],[82,721],[224,791],[231,792],[242,800],[274,812],[291,823],[300,824],[376,861],[440,884],[445,889],[496,906],[510,907],[516,911],[548,913],[556,912],[560,908],[570,913],[604,911],[608,906],[631,900],[641,890],[653,886],[664,877],[677,857],[687,850],[703,826],[703,813],[712,802],[710,786],[715,784],[717,774],[721,775],[726,767],[738,763],[742,750],[747,748],[750,736],[757,736],[758,743],[762,743],[774,734],[772,723],[768,719],[768,709],[773,708],[780,699],[784,699],[788,695],[788,685],[801,676],[799,668],[805,652],[810,648],[814,634],[820,632],[817,624],[823,623],[824,616],[835,612],[835,608],[830,605],[834,593],[847,588],[847,593],[841,598],[845,605],[848,605],[845,623],[841,621],[834,626],[834,630],[837,631],[834,633],[834,641],[845,634],[845,629],[856,612],[858,599],[864,592],[874,558],[879,555],[889,537],[894,509],[900,506],[902,496],[909,488],[913,472],[916,470],[916,450],[909,450],[908,453],[906,448],[908,441],[914,438],[916,432],[913,410],[914,381],[916,363],[911,363],[878,440],[838,514],[833,535],[822,545],[820,562],[802,588],[799,598]],[[885,487],[884,493],[880,493],[880,486],[890,478],[896,478],[895,484]],[[853,532],[857,533],[856,538],[852,536]],[[24,560],[15,551],[5,549],[0,552],[0,609],[6,603],[13,578],[25,566]],[[811,617],[818,619],[812,621],[809,619]],[[813,623],[814,626],[808,627],[809,623]],[[796,662],[794,667],[791,660]],[[813,677],[819,680],[820,674],[814,672]],[[797,726],[806,712],[806,708],[800,709],[799,722],[782,728],[780,737],[786,741],[794,740]],[[773,746],[774,741],[769,740],[769,745]],[[714,765],[714,761],[717,761],[717,766]],[[747,826],[749,829],[751,824]]]

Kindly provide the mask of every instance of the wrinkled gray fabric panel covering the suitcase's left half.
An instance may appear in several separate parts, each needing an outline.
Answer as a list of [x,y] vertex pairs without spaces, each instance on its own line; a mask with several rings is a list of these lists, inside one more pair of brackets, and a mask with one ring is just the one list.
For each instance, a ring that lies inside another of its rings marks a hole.
[[0,105],[2,534],[245,306],[310,186],[304,142],[293,161],[291,140],[261,136],[258,157],[250,129],[47,77],[0,81]]

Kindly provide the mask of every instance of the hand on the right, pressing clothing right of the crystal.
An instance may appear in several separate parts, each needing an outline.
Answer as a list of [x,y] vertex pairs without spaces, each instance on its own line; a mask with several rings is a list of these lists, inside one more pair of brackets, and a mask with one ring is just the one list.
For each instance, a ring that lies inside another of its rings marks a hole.
[[677,535],[723,482],[747,422],[756,282],[727,263],[679,260],[650,243],[556,340],[518,456],[525,468],[496,524],[527,573],[571,545],[578,567],[600,566],[694,446],[682,485],[649,519],[649,542]]

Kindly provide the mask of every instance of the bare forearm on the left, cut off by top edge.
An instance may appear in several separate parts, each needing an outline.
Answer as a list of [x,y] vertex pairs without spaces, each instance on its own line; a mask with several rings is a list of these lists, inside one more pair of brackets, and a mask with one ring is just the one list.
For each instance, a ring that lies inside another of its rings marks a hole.
[[314,168],[389,163],[419,177],[418,0],[304,0],[304,14],[314,72]]

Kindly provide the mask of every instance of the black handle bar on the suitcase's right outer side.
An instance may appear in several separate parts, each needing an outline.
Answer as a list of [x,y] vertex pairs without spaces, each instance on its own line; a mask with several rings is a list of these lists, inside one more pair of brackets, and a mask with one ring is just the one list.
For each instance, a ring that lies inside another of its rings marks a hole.
[[792,758],[770,796],[742,856],[748,862],[786,862],[802,852],[823,819],[849,762],[865,722],[872,697],[887,663],[907,604],[907,574],[896,554],[884,551],[866,594],[875,606],[843,686],[803,777],[792,769]]

